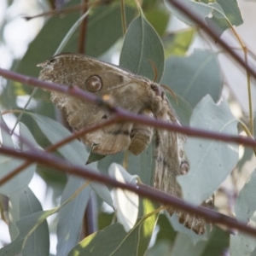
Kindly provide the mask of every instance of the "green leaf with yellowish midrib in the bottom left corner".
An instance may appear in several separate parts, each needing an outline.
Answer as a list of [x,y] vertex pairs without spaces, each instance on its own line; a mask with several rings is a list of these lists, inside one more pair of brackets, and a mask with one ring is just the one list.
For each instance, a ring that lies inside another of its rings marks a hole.
[[[19,230],[19,236],[15,238],[15,241],[12,241],[9,243],[9,245],[3,247],[0,249],[0,256],[15,256],[18,253],[20,253],[25,247],[26,243],[29,242],[30,237],[32,236],[33,232],[37,230],[40,226],[40,224],[43,224],[45,219],[48,218],[51,214],[55,213],[55,209],[44,211],[44,212],[35,212],[31,215],[27,215],[24,218],[20,218],[15,223],[16,228]],[[41,230],[42,231],[42,230]],[[49,237],[45,238],[44,236],[41,237],[42,244],[46,244],[47,241],[44,241],[45,239],[49,241]],[[29,252],[33,253],[33,252]],[[33,255],[33,254],[24,254],[24,255]],[[42,254],[39,252],[36,255],[42,255],[46,256],[48,254]]]

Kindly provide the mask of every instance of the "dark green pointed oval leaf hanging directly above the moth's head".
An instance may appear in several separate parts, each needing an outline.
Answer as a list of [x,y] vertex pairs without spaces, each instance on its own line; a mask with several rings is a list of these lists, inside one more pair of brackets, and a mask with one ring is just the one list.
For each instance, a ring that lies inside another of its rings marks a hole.
[[154,28],[143,15],[139,15],[131,22],[125,34],[119,66],[153,80],[154,69],[150,61],[157,68],[156,81],[160,81],[164,70],[163,46]]

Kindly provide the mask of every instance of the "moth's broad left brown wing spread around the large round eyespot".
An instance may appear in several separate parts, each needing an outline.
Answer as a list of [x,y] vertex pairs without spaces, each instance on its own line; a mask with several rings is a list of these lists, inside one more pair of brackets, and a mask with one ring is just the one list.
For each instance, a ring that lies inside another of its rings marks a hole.
[[[150,89],[148,79],[138,77],[119,67],[76,54],[56,55],[38,66],[43,67],[39,79],[44,81],[69,86],[77,85],[91,92],[86,86],[86,81],[96,76],[102,83],[100,90],[93,92],[96,96],[109,95],[116,106],[133,113],[143,113],[148,106]],[[51,100],[66,113],[67,122],[76,131],[110,117],[108,111],[98,108],[96,104],[78,100],[73,96],[53,91]],[[132,128],[131,123],[114,124],[85,134],[81,139],[87,145],[93,145],[93,152],[97,154],[115,154],[130,147],[133,138]]]

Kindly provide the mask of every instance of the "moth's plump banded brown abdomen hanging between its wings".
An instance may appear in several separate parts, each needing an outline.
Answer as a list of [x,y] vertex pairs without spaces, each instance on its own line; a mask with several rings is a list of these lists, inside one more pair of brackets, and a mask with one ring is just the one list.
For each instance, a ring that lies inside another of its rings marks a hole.
[[[148,117],[154,117],[153,113],[146,109],[142,113]],[[128,148],[132,154],[141,154],[151,142],[154,134],[154,128],[146,125],[133,125],[131,130],[131,145]]]

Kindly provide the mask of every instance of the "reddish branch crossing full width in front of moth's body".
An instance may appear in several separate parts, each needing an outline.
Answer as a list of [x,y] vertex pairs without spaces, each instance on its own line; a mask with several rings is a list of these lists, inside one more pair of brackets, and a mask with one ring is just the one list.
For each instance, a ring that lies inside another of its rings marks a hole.
[[[0,68],[0,75],[6,79],[12,79],[23,84],[29,84],[36,86],[44,90],[54,90],[70,96],[75,96],[86,102],[90,102],[98,105],[100,108],[106,108],[109,112],[115,113],[119,120],[130,121],[133,123],[149,125],[155,128],[166,129],[168,131],[175,131],[179,133],[186,134],[189,137],[201,137],[207,139],[219,140],[226,143],[238,143],[244,144],[248,147],[256,147],[256,140],[248,137],[233,136],[230,134],[206,131],[202,129],[189,128],[188,126],[173,125],[166,121],[160,121],[157,119],[152,119],[145,117],[143,115],[135,114],[126,111],[125,109],[114,107],[108,103],[108,101],[103,101],[102,98],[95,96],[89,92],[79,89],[77,86],[63,86],[61,84],[53,84],[49,82],[44,82],[39,79],[34,79],[28,76],[21,75],[3,68]],[[255,73],[256,77],[256,73]]]

